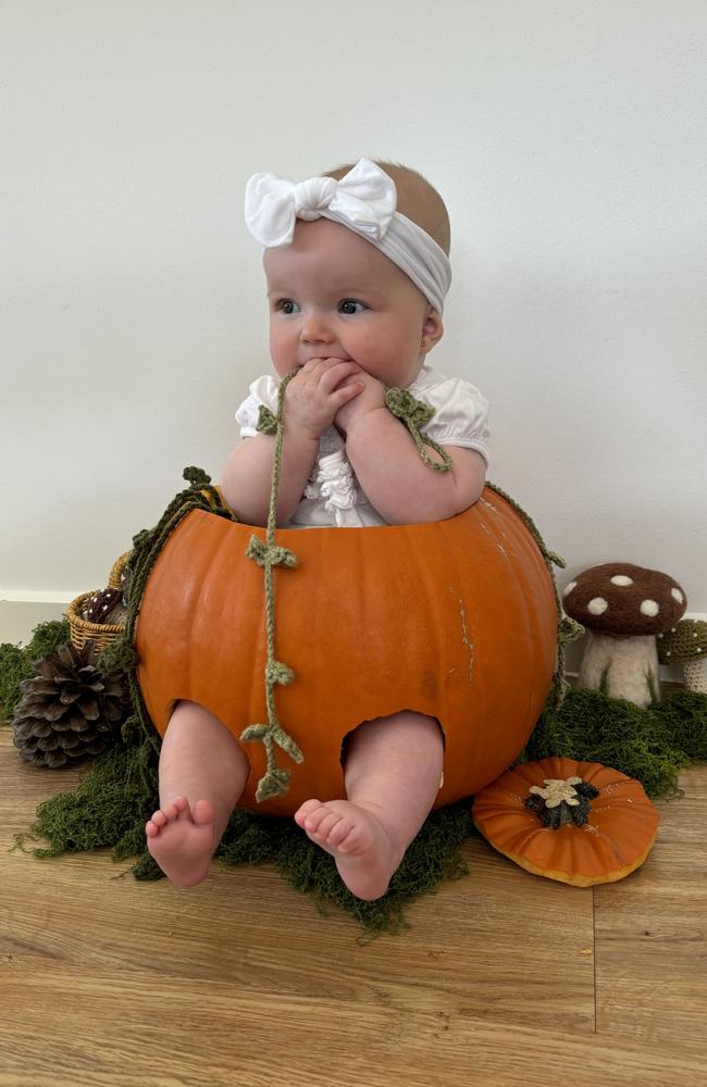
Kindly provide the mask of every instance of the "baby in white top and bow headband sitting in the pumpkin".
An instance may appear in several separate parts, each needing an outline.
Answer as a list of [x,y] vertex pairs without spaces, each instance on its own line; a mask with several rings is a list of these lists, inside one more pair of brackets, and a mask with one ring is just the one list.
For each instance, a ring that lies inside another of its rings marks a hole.
[[[277,524],[441,521],[472,505],[486,473],[486,401],[425,364],[443,335],[451,278],[438,193],[412,170],[362,159],[298,185],[257,174],[246,220],[265,247],[275,373],[299,367],[285,391]],[[390,387],[435,409],[422,430],[450,455],[450,471],[421,459],[386,407]],[[261,405],[276,411],[277,388],[261,377],[236,413],[241,440],[221,486],[246,524],[268,520],[275,438],[256,424]],[[363,721],[345,745],[347,799],[313,797],[295,814],[354,895],[385,894],[434,804],[443,755],[434,717],[402,711]],[[207,876],[249,770],[215,716],[195,702],[176,705],[160,758],[161,809],[146,826],[148,849],[174,883]]]

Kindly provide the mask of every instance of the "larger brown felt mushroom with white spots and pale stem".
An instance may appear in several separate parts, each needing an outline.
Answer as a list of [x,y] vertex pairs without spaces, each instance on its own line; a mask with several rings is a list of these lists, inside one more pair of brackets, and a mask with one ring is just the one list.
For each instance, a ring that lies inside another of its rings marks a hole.
[[579,686],[643,708],[659,701],[656,637],[687,607],[678,582],[657,570],[606,562],[570,582],[562,603],[586,628]]

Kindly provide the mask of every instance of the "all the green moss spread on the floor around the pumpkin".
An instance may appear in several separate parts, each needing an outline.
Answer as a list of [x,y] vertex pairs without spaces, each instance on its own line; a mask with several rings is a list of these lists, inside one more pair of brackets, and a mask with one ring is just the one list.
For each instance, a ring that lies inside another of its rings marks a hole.
[[[0,680],[12,700],[18,683],[32,674],[32,661],[54,652],[69,637],[67,624],[47,623],[29,646],[0,647]],[[691,761],[707,761],[707,696],[680,691],[642,710],[632,702],[596,690],[571,689],[561,707],[549,700],[519,761],[568,755],[600,762],[642,782],[648,796],[674,796],[678,773]],[[162,873],[147,852],[145,822],[158,807],[159,737],[145,729],[138,715],[123,725],[115,748],[97,759],[79,786],[42,803],[30,833],[37,857],[100,848],[115,861],[134,861],[137,879]],[[236,810],[216,858],[226,864],[274,864],[296,889],[326,911],[339,907],[365,932],[406,927],[405,907],[433,890],[442,879],[466,871],[461,844],[473,834],[470,801],[433,812],[396,872],[388,892],[375,902],[355,898],[342,883],[330,854],[307,838],[292,820]],[[18,844],[29,848],[27,836]]]

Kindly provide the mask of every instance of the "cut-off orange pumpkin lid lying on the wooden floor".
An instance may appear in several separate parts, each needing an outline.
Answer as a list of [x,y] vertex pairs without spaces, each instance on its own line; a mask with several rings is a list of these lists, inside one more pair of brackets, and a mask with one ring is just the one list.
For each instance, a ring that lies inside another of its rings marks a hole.
[[548,879],[623,879],[648,855],[659,815],[640,782],[598,762],[526,762],[483,789],[472,816],[494,849]]

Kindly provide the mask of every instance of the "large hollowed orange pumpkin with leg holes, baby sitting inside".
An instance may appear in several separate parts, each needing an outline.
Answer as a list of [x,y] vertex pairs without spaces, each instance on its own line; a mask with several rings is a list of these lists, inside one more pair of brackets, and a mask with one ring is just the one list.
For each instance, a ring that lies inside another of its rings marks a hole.
[[[193,510],[166,540],[140,602],[136,648],[146,708],[164,735],[191,699],[239,738],[266,721],[262,570],[252,528]],[[276,655],[295,672],[277,716],[301,748],[285,796],[261,804],[260,742],[241,803],[293,814],[311,797],[345,796],[342,742],[362,721],[410,709],[438,719],[444,785],[435,807],[481,789],[523,748],[556,662],[557,604],[523,518],[486,489],[448,521],[370,528],[282,529],[298,560],[273,571]]]

